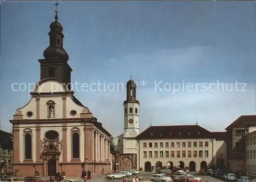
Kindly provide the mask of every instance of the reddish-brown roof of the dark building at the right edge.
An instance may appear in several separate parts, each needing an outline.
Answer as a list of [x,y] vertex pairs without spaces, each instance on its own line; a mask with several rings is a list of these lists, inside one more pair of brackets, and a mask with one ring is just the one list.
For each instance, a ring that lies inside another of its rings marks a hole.
[[242,115],[231,123],[225,130],[239,125],[256,125],[256,115]]

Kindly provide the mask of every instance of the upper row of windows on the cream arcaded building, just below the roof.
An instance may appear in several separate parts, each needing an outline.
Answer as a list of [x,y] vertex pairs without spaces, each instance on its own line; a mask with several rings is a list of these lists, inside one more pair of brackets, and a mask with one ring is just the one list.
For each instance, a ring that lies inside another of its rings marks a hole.
[[[160,142],[160,147],[163,147],[163,142]],[[192,142],[187,142],[187,147],[191,147]],[[204,147],[208,147],[209,143],[205,142]],[[154,148],[158,147],[158,143],[154,142]],[[165,147],[169,147],[169,142],[165,142]],[[170,142],[170,147],[174,147],[174,142]],[[180,142],[176,142],[176,147],[180,147]],[[182,142],[182,147],[186,147],[186,142]],[[197,147],[197,142],[193,142],[193,147]],[[199,142],[199,147],[203,147],[203,142]],[[143,148],[147,148],[147,143],[143,143]],[[152,148],[152,142],[148,143],[148,148]]]

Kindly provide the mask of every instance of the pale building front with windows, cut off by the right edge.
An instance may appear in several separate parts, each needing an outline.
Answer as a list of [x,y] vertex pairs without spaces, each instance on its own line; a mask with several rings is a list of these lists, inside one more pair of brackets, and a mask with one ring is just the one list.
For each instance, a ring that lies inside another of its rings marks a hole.
[[245,135],[246,141],[246,174],[256,178],[256,131]]

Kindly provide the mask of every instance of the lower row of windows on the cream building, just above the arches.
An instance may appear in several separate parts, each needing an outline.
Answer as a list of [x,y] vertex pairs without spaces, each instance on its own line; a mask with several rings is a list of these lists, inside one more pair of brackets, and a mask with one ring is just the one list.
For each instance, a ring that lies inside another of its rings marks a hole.
[[[170,153],[169,153],[170,152]],[[193,155],[192,155],[192,152],[193,152]],[[148,153],[148,156],[147,156],[147,153]],[[165,157],[175,157],[175,151],[172,150],[172,151],[159,151],[159,157],[164,157],[164,154],[165,153]],[[169,155],[170,154],[170,155]],[[186,157],[186,151],[183,150],[183,151],[176,151],[176,157]],[[204,151],[204,155],[203,155],[203,150],[199,150],[199,155],[198,155],[198,151],[197,150],[194,150],[194,151],[187,151],[187,157],[208,157],[209,156],[209,151],[208,150],[205,150]],[[153,157],[152,156],[152,151],[143,151],[143,157],[146,158],[146,157]],[[154,157],[157,158],[158,157],[158,151],[154,151]]]

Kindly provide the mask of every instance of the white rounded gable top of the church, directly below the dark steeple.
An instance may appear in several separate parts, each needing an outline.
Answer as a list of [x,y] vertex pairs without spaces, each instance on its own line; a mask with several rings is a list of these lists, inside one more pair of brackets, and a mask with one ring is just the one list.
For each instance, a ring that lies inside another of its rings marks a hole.
[[52,92],[65,92],[65,86],[63,86],[60,82],[51,80],[46,81],[38,86],[35,90],[37,93],[52,93]]

